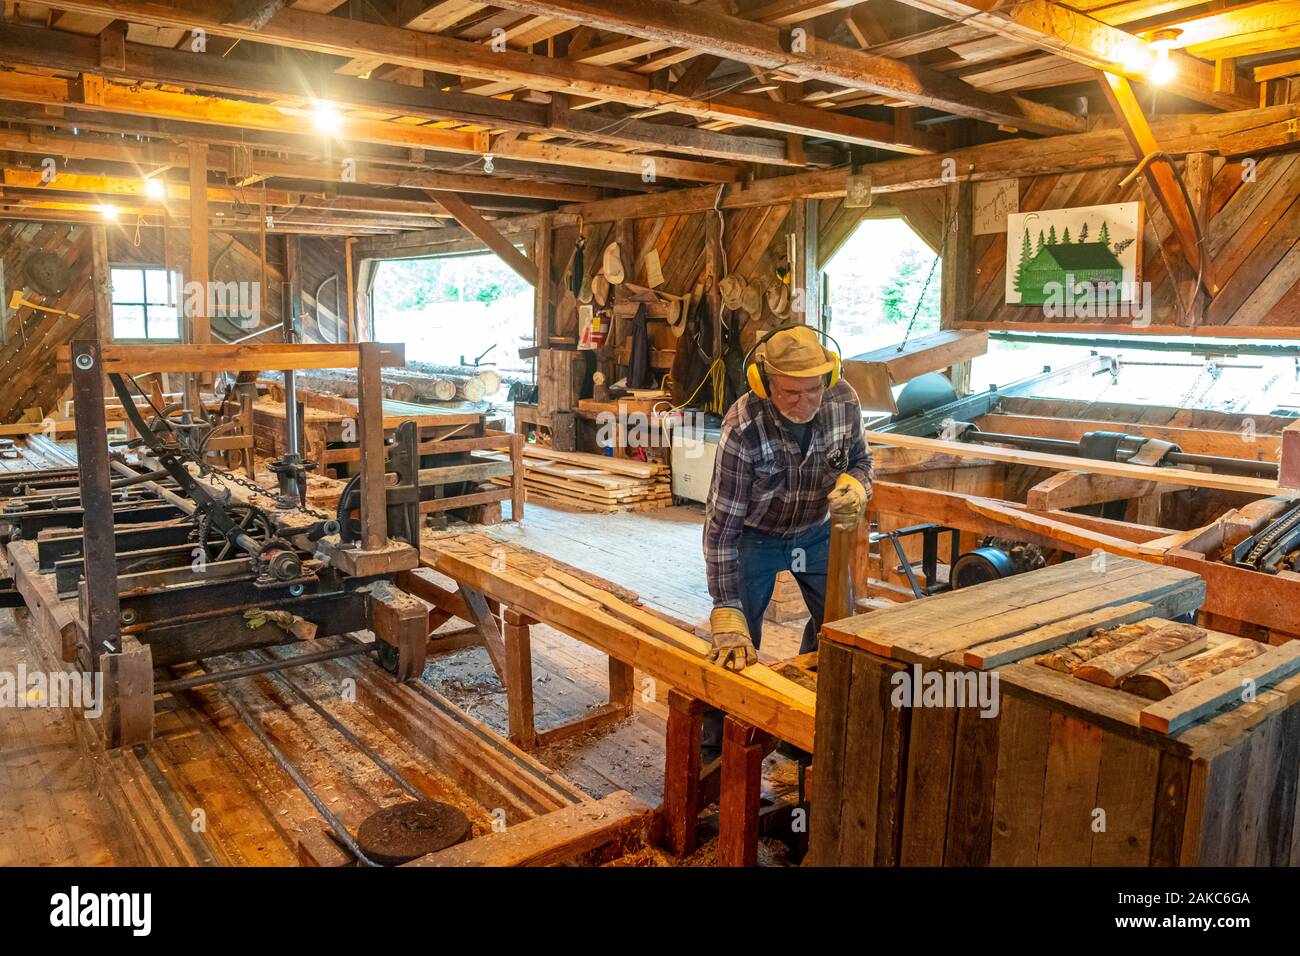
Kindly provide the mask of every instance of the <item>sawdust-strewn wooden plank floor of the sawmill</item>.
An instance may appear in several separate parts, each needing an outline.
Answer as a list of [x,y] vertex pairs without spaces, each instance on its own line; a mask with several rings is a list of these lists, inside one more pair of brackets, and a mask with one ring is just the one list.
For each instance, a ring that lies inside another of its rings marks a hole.
[[[523,525],[490,531],[701,624],[711,606],[701,525],[699,507],[590,515],[529,506]],[[533,633],[540,730],[606,700],[603,654],[543,626]],[[762,657],[792,657],[798,639],[797,628],[768,626]],[[231,656],[218,666],[252,659]],[[61,666],[52,649],[42,646],[26,611],[0,611],[0,671],[12,674],[20,662],[29,670]],[[295,669],[289,676],[420,791],[462,806],[476,831],[490,827],[489,796],[472,792],[472,780],[458,779],[463,767],[430,758],[428,747],[415,739],[419,708],[411,711],[413,721],[395,727],[391,713],[372,706],[373,697],[341,700],[343,676],[370,682],[372,692],[384,692],[387,678],[376,665],[354,658]],[[504,735],[506,693],[482,648],[432,658],[422,679],[471,718]],[[350,829],[373,810],[408,799],[389,774],[350,747],[277,676],[168,698],[159,704],[152,747],[110,754],[99,748],[90,724],[68,710],[5,708],[0,709],[0,864],[292,865],[299,835],[320,830],[321,817],[238,718],[231,701],[242,704]],[[663,704],[638,697],[634,714],[620,724],[556,743],[532,757],[590,796],[627,790],[656,804],[663,792],[664,719]],[[792,787],[793,765],[768,758],[767,783],[774,792]],[[196,810],[203,812],[204,827],[198,832],[187,826]]]

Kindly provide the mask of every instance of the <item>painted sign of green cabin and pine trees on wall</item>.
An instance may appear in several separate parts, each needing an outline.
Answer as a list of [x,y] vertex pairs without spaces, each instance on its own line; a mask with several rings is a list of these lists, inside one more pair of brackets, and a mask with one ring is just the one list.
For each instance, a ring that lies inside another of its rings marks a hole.
[[1006,302],[1044,306],[1093,295],[1136,299],[1141,203],[1043,209],[1006,217]]

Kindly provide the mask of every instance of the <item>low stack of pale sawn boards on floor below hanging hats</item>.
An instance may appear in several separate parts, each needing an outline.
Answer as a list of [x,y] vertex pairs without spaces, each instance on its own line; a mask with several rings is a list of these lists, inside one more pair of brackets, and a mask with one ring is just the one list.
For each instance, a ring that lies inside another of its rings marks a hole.
[[554,501],[584,511],[649,511],[672,505],[668,468],[658,462],[524,446],[529,501]]

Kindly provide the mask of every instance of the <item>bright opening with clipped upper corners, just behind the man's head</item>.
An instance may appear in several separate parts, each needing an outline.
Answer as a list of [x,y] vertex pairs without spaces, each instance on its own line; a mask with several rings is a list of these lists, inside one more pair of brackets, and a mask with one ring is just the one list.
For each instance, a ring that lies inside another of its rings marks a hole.
[[863,220],[826,265],[845,358],[939,330],[939,256],[902,219]]

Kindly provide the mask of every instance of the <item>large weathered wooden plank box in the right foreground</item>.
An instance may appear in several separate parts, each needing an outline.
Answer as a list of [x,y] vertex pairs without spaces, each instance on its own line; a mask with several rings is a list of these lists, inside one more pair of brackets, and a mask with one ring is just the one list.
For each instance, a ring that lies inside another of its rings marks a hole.
[[[1193,610],[1200,579],[1089,558],[828,624],[818,678],[811,861],[820,865],[1282,865],[1300,775],[1300,676],[1175,734],[1149,700],[1028,659],[1056,633]],[[1091,623],[1089,623],[1091,622]],[[893,706],[897,675],[970,675],[997,714]],[[978,657],[978,656],[976,656]],[[1100,829],[1098,810],[1105,812]]]

